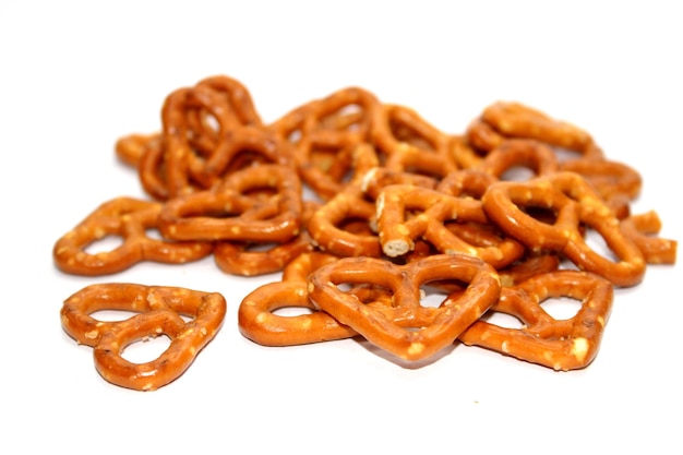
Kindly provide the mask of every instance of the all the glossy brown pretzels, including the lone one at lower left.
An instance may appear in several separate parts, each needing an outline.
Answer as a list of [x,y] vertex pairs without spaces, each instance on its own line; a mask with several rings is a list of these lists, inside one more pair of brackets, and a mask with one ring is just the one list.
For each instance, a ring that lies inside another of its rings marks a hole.
[[[638,171],[519,103],[494,103],[455,134],[347,87],[266,123],[244,85],[216,75],[170,93],[161,123],[116,143],[149,197],[96,207],[57,240],[55,264],[104,276],[213,255],[228,275],[279,274],[239,304],[240,332],[261,345],[362,337],[421,361],[460,342],[580,369],[598,352],[614,288],[675,263],[657,212],[632,213]],[[109,236],[120,244],[89,252]],[[575,315],[543,309],[561,298],[580,303]],[[95,320],[103,309],[136,315]],[[68,298],[61,321],[93,346],[103,378],[148,391],[182,374],[225,313],[216,292],[107,283]],[[121,357],[161,334],[163,358]]]

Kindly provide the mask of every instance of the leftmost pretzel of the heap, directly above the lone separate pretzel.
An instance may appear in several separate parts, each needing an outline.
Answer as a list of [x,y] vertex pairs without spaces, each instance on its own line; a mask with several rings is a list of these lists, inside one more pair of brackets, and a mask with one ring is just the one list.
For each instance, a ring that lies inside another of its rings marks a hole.
[[[212,253],[208,242],[148,237],[147,229],[159,227],[161,207],[157,202],[125,196],[100,204],[57,240],[52,248],[55,264],[65,273],[97,276],[124,271],[142,261],[183,264]],[[108,251],[88,252],[107,236],[119,237],[121,243]]]

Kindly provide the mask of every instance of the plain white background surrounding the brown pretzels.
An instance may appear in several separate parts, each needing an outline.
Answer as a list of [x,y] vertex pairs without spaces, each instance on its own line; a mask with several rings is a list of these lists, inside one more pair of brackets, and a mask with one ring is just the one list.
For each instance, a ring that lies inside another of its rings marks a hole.
[[[110,277],[58,272],[55,241],[101,202],[144,196],[115,141],[153,132],[171,91],[214,74],[262,118],[348,85],[463,132],[494,100],[588,130],[644,178],[681,240],[683,27],[676,2],[2,1],[3,263],[0,452],[681,453],[681,266],[616,291],[596,361],[558,373],[456,347],[407,368],[354,340],[265,348],[237,327],[241,298],[273,277],[213,260]],[[175,383],[123,390],[59,309],[92,283],[219,291],[217,337]],[[12,447],[11,450],[9,447]]]

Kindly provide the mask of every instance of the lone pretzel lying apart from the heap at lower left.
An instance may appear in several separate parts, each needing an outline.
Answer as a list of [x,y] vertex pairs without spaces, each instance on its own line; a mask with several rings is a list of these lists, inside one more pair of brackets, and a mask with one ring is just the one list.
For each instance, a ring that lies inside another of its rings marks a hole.
[[[101,310],[137,314],[115,322],[91,316]],[[225,319],[226,301],[216,292],[109,283],[79,290],[64,300],[60,313],[64,331],[79,344],[94,348],[95,367],[106,381],[154,391],[182,375],[215,337]],[[157,359],[133,363],[122,357],[129,345],[159,335],[168,336],[170,345]]]

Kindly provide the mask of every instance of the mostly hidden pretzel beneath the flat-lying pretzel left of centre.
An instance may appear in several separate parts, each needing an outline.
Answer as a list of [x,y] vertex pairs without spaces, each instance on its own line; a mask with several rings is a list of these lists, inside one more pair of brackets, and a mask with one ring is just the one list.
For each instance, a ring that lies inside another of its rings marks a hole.
[[[304,201],[303,207],[301,223],[305,226],[320,204]],[[259,242],[218,241],[214,247],[214,260],[225,273],[255,276],[279,272],[289,262],[313,249],[308,230],[301,229],[295,238],[280,243],[264,246]]]

